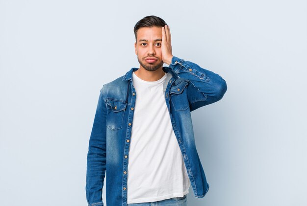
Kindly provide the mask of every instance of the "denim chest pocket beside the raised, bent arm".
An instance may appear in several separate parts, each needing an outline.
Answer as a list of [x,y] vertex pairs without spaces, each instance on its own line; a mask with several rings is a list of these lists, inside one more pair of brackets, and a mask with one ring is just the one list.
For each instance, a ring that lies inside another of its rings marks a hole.
[[188,82],[180,81],[176,85],[172,85],[170,89],[170,99],[175,111],[186,110],[189,108],[186,87]]

